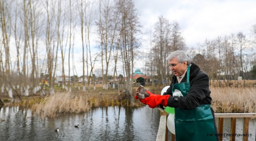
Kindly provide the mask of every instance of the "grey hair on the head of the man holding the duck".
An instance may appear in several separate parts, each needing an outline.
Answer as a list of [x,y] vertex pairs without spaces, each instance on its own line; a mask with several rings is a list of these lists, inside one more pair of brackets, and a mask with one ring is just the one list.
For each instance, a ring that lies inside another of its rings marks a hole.
[[184,51],[174,51],[166,58],[166,60],[169,62],[173,58],[177,58],[177,60],[180,63],[187,61],[187,65],[190,65],[189,58],[187,57],[187,54]]

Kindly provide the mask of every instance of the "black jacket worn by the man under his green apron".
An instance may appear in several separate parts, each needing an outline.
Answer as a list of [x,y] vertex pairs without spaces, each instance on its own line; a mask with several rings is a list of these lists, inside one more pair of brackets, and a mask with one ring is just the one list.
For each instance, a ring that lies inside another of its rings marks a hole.
[[[180,81],[187,81],[187,73],[186,76]],[[191,110],[197,108],[199,105],[211,105],[211,91],[209,89],[209,77],[204,72],[201,71],[200,68],[195,64],[191,63],[190,73],[189,73],[189,83],[190,90],[188,94],[183,97],[174,96],[172,93],[173,83],[178,83],[176,76],[174,75],[171,80],[171,85],[169,89],[167,89],[166,94],[170,94],[171,96],[168,99],[167,106],[174,108],[181,108],[184,110]],[[176,100],[176,98],[178,98]]]

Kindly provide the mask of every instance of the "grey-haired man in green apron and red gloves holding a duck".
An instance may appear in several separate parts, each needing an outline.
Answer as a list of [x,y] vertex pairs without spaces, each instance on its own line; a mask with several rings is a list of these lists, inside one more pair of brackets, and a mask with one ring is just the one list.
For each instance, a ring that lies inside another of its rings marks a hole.
[[163,96],[147,91],[150,96],[139,100],[150,108],[174,107],[176,141],[219,141],[208,75],[183,51],[172,52],[167,60],[174,72],[169,89]]

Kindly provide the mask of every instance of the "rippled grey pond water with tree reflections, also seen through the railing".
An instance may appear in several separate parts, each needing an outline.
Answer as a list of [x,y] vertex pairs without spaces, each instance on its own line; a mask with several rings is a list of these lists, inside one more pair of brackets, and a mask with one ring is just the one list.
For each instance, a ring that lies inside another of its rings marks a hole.
[[[80,114],[41,118],[30,109],[0,109],[0,141],[155,141],[160,111],[148,106],[92,108]],[[218,124],[218,120],[216,119]],[[256,121],[250,119],[249,141],[255,140]],[[79,128],[75,125],[79,124]],[[59,132],[54,129],[59,128]],[[236,133],[243,133],[243,119],[237,118]],[[223,133],[230,132],[230,119],[224,119]],[[171,133],[168,133],[171,141]],[[229,137],[223,137],[228,141]],[[236,137],[237,141],[242,140]]]

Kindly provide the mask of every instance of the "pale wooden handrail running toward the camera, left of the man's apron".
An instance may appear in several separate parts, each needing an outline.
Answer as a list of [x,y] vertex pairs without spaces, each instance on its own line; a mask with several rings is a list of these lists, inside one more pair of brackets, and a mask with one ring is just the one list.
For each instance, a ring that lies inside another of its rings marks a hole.
[[158,128],[158,133],[156,136],[156,141],[165,141],[165,130],[166,130],[166,115],[160,117],[160,123]]

